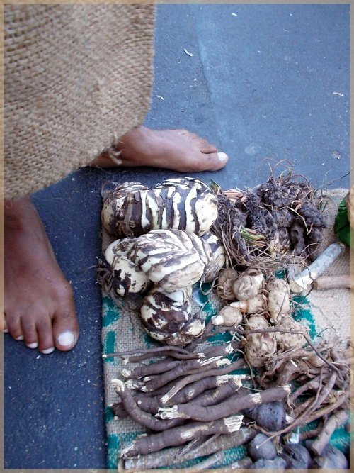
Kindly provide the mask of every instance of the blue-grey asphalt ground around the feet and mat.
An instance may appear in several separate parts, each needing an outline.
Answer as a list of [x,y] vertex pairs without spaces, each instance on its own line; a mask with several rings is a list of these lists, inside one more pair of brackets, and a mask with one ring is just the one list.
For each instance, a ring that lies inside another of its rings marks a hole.
[[[316,186],[348,187],[349,5],[158,7],[151,128],[187,128],[227,152],[224,188],[263,182],[289,160]],[[188,55],[187,52],[190,54]],[[193,55],[193,56],[192,56]],[[72,282],[81,326],[72,352],[5,342],[5,467],[105,467],[100,255],[104,182],[156,184],[176,172],[84,168],[33,196]]]

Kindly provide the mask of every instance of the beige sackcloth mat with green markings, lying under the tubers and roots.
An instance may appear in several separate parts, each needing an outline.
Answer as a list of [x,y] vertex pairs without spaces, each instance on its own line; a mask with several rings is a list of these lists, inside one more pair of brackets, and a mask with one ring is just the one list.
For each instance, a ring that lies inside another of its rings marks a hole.
[[[327,216],[329,228],[324,232],[324,240],[321,243],[321,249],[328,246],[334,241],[338,241],[336,235],[333,233],[333,222],[336,216],[338,205],[346,196],[347,189],[336,189],[334,191],[326,191],[326,208],[324,213]],[[105,248],[113,241],[108,233],[103,229],[102,234],[102,248]],[[333,263],[333,265],[326,270],[324,275],[349,274],[350,251],[346,248],[340,257]],[[202,316],[206,320],[215,313],[218,313],[224,304],[217,298],[215,294],[200,293],[200,299],[206,301],[202,311]],[[298,310],[294,317],[298,321],[306,324],[309,327],[310,335],[316,341],[316,334],[327,340],[336,340],[336,337],[348,339],[350,334],[350,291],[349,289],[331,289],[326,291],[312,290],[307,296],[297,296],[301,302],[302,309]],[[193,301],[193,304],[195,302]],[[200,306],[193,307],[197,311]],[[229,340],[229,335],[217,335],[220,340]],[[213,338],[216,340],[217,338]],[[319,341],[317,339],[317,341]],[[150,348],[159,346],[152,340],[152,338],[144,332],[142,323],[139,320],[139,302],[135,301],[127,304],[122,301],[122,306],[118,308],[109,296],[103,294],[102,306],[102,350],[103,353],[108,354],[122,350],[132,350],[136,347]],[[127,369],[137,365],[125,365]],[[131,418],[118,419],[113,417],[110,406],[119,401],[118,394],[115,393],[111,384],[111,379],[122,378],[120,370],[122,369],[122,360],[120,358],[105,358],[103,359],[104,381],[105,381],[105,423],[107,431],[107,445],[108,445],[108,460],[107,466],[109,469],[117,469],[119,451],[128,443],[135,439],[139,434],[146,430],[142,425],[135,423]],[[331,438],[331,443],[341,450],[348,450],[349,434],[343,428],[338,429]],[[219,467],[224,467],[231,462],[240,460],[246,456],[246,448],[244,446],[230,449],[225,452],[224,462],[219,464]],[[178,468],[188,468],[193,465],[194,460],[178,465]],[[167,467],[166,467],[167,468]],[[170,467],[177,468],[177,467]]]

